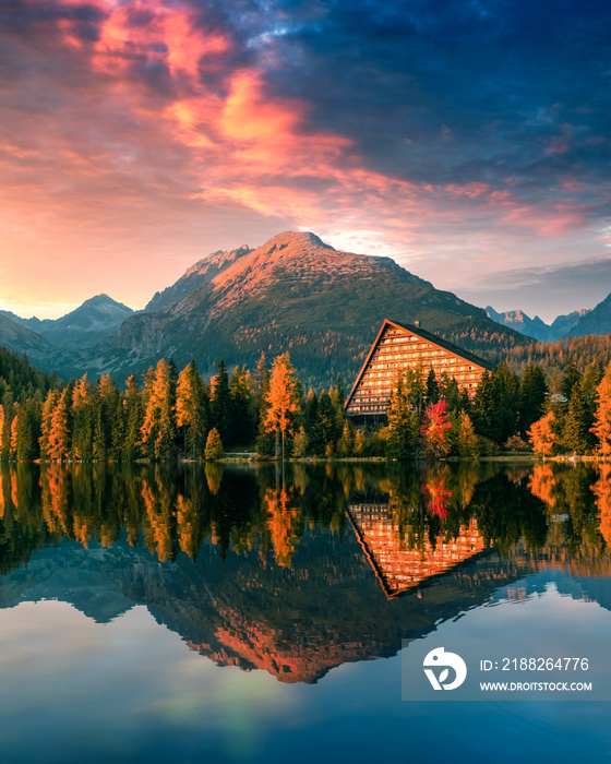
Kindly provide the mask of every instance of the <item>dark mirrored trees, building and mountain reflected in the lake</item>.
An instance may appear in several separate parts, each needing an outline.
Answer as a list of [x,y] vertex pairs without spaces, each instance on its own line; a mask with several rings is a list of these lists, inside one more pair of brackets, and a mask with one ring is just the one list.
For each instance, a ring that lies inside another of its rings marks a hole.
[[284,682],[394,655],[538,571],[609,607],[610,542],[607,464],[0,468],[0,607],[58,598],[105,622],[144,604]]

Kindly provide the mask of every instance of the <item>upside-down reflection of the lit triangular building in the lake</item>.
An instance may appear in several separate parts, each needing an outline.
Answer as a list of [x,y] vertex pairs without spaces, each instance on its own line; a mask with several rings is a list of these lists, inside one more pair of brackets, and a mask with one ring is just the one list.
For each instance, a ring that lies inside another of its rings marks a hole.
[[408,549],[400,542],[386,504],[350,504],[347,514],[388,599],[417,589],[486,549],[475,520],[462,525],[452,540],[438,536],[433,546],[424,534],[417,547]]

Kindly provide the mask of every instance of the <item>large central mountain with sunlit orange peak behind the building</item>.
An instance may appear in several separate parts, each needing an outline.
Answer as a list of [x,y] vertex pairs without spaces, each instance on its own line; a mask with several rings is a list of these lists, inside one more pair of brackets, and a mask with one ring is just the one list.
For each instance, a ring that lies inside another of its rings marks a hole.
[[355,377],[385,318],[419,321],[492,359],[527,342],[390,258],[337,251],[314,234],[288,231],[200,261],[148,310],[70,362],[124,377],[171,356],[214,373],[220,358],[252,369],[262,351],[272,360],[288,350],[304,383],[326,384],[337,373]]

